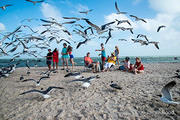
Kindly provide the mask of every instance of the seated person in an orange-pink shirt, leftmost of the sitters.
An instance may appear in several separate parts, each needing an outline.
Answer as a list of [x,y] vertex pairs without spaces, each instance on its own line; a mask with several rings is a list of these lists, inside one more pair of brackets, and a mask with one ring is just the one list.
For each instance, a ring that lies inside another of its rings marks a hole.
[[84,57],[85,66],[88,68],[92,68],[93,72],[98,72],[99,69],[99,62],[93,62],[90,57],[90,53],[88,52],[87,55]]

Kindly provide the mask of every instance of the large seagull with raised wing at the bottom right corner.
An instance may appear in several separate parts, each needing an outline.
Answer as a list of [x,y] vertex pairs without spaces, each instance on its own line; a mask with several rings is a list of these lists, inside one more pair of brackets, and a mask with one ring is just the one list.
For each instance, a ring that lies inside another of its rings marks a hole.
[[180,102],[175,102],[173,101],[172,99],[172,95],[170,93],[170,90],[176,85],[176,82],[175,81],[171,81],[169,82],[168,84],[166,84],[162,90],[161,90],[161,93],[162,95],[160,100],[164,103],[167,103],[167,104],[180,104]]

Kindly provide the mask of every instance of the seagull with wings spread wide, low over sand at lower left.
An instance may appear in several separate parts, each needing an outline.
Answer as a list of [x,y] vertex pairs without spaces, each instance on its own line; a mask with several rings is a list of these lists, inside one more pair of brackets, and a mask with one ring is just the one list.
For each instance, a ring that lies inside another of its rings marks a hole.
[[24,94],[27,94],[27,93],[33,93],[33,92],[36,92],[36,93],[40,93],[44,98],[49,98],[51,97],[50,95],[48,95],[48,92],[50,92],[52,89],[64,89],[62,87],[55,87],[55,86],[50,86],[48,87],[46,90],[36,90],[36,89],[33,89],[33,90],[29,90],[29,91],[26,91],[26,92],[23,92],[19,95],[24,95]]

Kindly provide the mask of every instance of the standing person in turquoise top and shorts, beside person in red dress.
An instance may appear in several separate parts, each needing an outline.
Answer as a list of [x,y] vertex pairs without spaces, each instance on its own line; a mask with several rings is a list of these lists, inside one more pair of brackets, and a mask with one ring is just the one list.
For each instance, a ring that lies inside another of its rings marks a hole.
[[61,55],[62,55],[62,62],[63,62],[63,69],[64,70],[64,64],[66,63],[66,67],[67,67],[67,70],[68,70],[68,53],[67,53],[67,44],[64,43],[63,44],[63,49],[62,49],[62,52],[61,52]]

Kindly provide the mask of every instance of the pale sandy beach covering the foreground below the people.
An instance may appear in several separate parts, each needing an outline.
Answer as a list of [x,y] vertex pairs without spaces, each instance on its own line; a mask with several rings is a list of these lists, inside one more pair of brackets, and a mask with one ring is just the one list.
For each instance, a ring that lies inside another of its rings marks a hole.
[[[64,78],[66,71],[58,70],[49,79],[34,82],[21,82],[25,79],[39,79],[46,67],[17,68],[7,78],[0,79],[0,119],[1,120],[180,120],[180,105],[167,105],[160,101],[162,87],[175,80],[177,85],[171,90],[175,101],[180,101],[180,80],[171,78],[179,69],[180,63],[145,64],[145,73],[134,75],[113,70],[110,72],[83,72],[84,77],[99,75],[88,88],[81,82],[70,82],[74,77]],[[76,71],[84,70],[75,67]],[[114,90],[111,81],[122,87]],[[40,94],[22,92],[49,86],[64,87],[54,89],[44,99]]]

